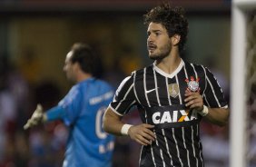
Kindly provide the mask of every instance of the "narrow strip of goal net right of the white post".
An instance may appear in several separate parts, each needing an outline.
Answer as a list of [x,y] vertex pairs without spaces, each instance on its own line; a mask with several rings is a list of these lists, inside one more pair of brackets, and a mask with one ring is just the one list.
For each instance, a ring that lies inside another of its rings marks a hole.
[[246,103],[248,149],[246,158],[249,166],[256,166],[256,15],[247,13],[247,51],[246,51]]

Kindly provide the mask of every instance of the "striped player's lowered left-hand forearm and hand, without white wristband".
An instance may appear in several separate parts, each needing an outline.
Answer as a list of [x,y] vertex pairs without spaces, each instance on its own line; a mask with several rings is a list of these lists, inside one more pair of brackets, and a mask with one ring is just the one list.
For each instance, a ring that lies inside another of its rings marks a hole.
[[[113,110],[108,107],[103,116],[104,131],[115,135],[122,135],[121,132],[124,123],[121,120],[122,116],[114,113]],[[135,142],[142,145],[148,145],[154,141],[153,127],[153,125],[146,123],[133,125],[129,128],[127,135],[129,135]]]

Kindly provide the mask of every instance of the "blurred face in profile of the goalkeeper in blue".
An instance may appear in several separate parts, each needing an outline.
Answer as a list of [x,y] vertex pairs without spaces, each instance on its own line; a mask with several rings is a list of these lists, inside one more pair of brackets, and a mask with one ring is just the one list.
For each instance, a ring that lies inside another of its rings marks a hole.
[[68,80],[74,81],[74,64],[71,62],[72,55],[72,51],[66,54],[64,61],[64,72]]

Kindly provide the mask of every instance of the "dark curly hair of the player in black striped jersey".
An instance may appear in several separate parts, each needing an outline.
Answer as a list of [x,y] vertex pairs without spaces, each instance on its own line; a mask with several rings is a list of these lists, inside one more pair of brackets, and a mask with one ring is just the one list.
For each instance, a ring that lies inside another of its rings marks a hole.
[[182,7],[172,7],[168,3],[163,3],[143,15],[144,25],[149,25],[151,22],[162,24],[170,37],[174,34],[180,34],[179,50],[182,51],[188,34],[188,21],[184,14],[185,11]]

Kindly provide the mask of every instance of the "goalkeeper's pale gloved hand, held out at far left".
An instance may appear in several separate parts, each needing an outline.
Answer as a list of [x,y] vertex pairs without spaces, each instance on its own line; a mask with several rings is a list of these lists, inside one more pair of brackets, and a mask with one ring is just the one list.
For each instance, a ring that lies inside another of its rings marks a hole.
[[43,116],[44,116],[43,107],[40,103],[38,103],[31,118],[27,120],[27,122],[25,123],[24,129],[26,130],[28,128],[31,128],[37,125],[38,123],[41,123],[43,120]]

